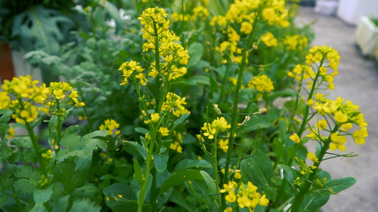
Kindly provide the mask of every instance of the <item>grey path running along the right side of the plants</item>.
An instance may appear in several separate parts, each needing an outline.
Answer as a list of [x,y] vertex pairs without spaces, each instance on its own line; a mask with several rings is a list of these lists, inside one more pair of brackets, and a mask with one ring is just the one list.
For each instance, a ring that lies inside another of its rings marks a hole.
[[355,177],[357,183],[349,189],[330,197],[324,212],[378,211],[378,69],[374,61],[362,57],[355,45],[355,26],[348,25],[340,18],[315,13],[311,7],[300,11],[299,23],[313,25],[315,40],[312,45],[326,45],[340,54],[339,75],[335,77],[335,90],[329,98],[338,96],[360,105],[365,114],[369,137],[362,146],[356,146],[351,138],[346,143],[348,153],[358,154],[355,158],[326,160],[321,168],[330,172],[333,179]]

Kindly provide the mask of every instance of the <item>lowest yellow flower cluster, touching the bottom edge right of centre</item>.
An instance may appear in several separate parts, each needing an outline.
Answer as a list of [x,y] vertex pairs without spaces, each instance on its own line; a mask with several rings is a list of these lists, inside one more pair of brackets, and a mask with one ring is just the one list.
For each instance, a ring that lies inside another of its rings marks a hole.
[[242,182],[238,187],[238,184],[234,181],[223,184],[221,193],[226,193],[226,201],[229,203],[237,202],[240,208],[248,208],[250,211],[254,211],[254,208],[258,205],[267,206],[269,200],[265,194],[261,195],[257,192],[257,187],[248,182],[246,185]]

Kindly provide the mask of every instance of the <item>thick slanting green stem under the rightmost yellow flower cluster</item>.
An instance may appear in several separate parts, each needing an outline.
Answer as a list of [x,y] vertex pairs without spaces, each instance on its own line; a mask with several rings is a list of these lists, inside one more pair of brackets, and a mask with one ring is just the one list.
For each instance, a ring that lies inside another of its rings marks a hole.
[[[339,125],[336,125],[335,128],[331,131],[331,134],[335,133],[338,131]],[[291,208],[291,212],[298,212],[299,209],[301,208],[301,204],[304,200],[304,197],[306,196],[308,190],[310,189],[311,185],[313,184],[313,180],[315,179],[316,176],[316,170],[318,170],[319,165],[323,161],[324,155],[326,155],[326,152],[330,146],[330,142],[332,140],[330,139],[330,136],[328,139],[325,141],[324,146],[321,148],[321,152],[318,155],[318,163],[313,163],[314,166],[317,168],[313,170],[313,172],[308,176],[308,181],[306,180],[304,182],[304,185],[301,187],[301,191],[296,195],[296,198],[294,199],[293,206]]]

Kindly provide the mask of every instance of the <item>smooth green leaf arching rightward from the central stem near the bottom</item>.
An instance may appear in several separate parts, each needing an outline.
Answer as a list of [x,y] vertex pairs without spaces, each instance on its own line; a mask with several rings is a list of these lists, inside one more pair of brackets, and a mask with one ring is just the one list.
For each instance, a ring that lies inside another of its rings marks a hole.
[[202,177],[201,173],[197,170],[184,170],[181,172],[177,172],[171,177],[168,177],[168,179],[166,179],[165,182],[163,182],[162,192],[167,192],[168,189],[182,184],[187,180],[193,179],[204,180],[204,177]]

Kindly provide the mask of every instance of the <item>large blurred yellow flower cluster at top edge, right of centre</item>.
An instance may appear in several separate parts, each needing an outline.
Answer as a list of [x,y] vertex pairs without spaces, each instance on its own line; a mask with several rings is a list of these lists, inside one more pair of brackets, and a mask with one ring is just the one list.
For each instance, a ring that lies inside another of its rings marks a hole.
[[[216,51],[222,57],[221,63],[226,64],[227,59],[233,63],[240,63],[243,55],[243,47],[238,47],[238,41],[242,36],[248,35],[253,30],[253,23],[256,18],[260,17],[258,11],[262,9],[262,19],[269,25],[282,25],[287,27],[287,9],[284,7],[282,0],[236,0],[230,4],[226,16],[214,16],[210,25],[223,34],[226,34],[226,40],[221,40]],[[232,26],[232,27],[231,27]],[[267,47],[277,46],[277,39],[272,33],[265,33],[261,37],[262,42]],[[248,58],[248,52],[246,52]],[[248,62],[248,61],[246,61]]]

